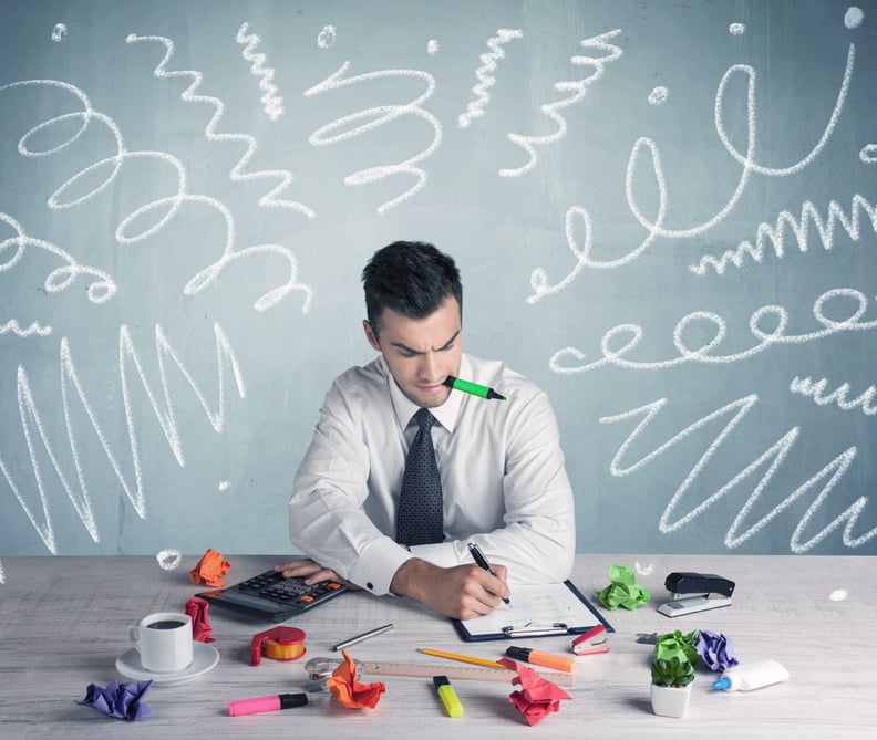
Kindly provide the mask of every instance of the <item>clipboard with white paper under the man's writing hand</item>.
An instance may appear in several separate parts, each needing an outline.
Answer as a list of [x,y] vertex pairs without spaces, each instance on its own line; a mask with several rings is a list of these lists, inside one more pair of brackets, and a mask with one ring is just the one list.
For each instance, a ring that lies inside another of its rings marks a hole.
[[476,643],[516,637],[579,635],[594,627],[615,628],[570,581],[515,586],[510,604],[499,604],[491,614],[474,619],[452,619],[461,639]]

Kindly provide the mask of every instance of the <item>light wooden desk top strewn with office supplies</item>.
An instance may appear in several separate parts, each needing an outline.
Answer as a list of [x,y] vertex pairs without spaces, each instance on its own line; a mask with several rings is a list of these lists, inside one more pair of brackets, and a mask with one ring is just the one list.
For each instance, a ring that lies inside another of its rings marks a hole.
[[[229,582],[243,580],[277,557],[234,556]],[[303,663],[334,655],[330,646],[371,627],[395,627],[351,648],[361,660],[443,664],[415,652],[435,647],[496,659],[504,643],[464,644],[444,618],[419,605],[368,594],[345,594],[312,614],[290,621],[307,633],[307,655],[296,663],[264,659],[249,665],[252,635],[270,625],[213,608],[210,622],[219,664],[189,684],[152,687],[152,715],[138,722],[105,718],[74,702],[89,684],[128,680],[115,670],[128,647],[126,625],[156,611],[182,611],[197,587],[188,579],[197,557],[163,571],[153,557],[4,557],[0,585],[0,738],[873,738],[877,725],[874,621],[877,579],[873,557],[618,556],[579,555],[574,582],[588,595],[608,584],[607,567],[650,566],[638,582],[652,590],[650,604],[603,614],[615,626],[611,652],[578,658],[571,701],[530,728],[508,701],[512,686],[455,681],[465,708],[445,717],[432,682],[383,680],[386,694],[373,710],[349,710],[328,692],[310,695],[301,709],[230,718],[233,699],[298,691]],[[642,570],[642,569],[641,569]],[[666,601],[663,579],[672,571],[719,573],[736,582],[731,607],[670,619],[656,612]],[[846,597],[842,596],[846,592]],[[833,598],[834,596],[834,598]],[[639,633],[702,628],[721,632],[741,661],[775,658],[790,680],[750,692],[710,688],[714,674],[698,669],[685,719],[651,712],[652,648]],[[567,637],[529,640],[566,653]],[[510,674],[509,674],[510,676]]]

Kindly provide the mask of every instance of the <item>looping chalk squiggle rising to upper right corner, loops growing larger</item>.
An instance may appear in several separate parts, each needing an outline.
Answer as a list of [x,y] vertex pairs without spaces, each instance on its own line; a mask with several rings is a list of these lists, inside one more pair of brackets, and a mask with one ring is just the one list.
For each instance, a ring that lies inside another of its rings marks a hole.
[[[567,220],[569,220],[571,215],[578,215],[582,219],[585,219],[586,225],[588,227],[589,238],[586,244],[584,246],[584,248],[579,249],[578,246],[575,243],[575,240],[570,239],[569,230],[567,230],[567,246],[576,257],[575,268],[567,275],[567,278],[565,278],[557,285],[549,284],[547,273],[543,268],[537,268],[536,270],[534,270],[533,274],[530,275],[530,285],[533,286],[535,292],[533,295],[530,295],[527,299],[528,302],[533,303],[544,298],[545,295],[549,295],[558,292],[559,290],[563,290],[563,288],[568,285],[572,280],[575,280],[575,278],[579,274],[579,272],[581,272],[581,270],[585,268],[591,268],[594,270],[612,270],[616,268],[620,268],[629,262],[632,262],[638,257],[640,257],[640,254],[642,254],[647,249],[649,249],[658,237],[664,237],[668,239],[688,239],[704,233],[709,229],[713,228],[716,223],[724,220],[725,217],[736,207],[737,202],[740,201],[740,198],[743,196],[746,185],[749,184],[750,176],[752,175],[752,173],[756,173],[767,177],[786,177],[788,175],[794,175],[801,171],[802,169],[804,169],[823,152],[826,144],[828,143],[828,139],[834,133],[834,129],[837,125],[837,121],[840,116],[840,112],[843,111],[846,101],[847,92],[849,90],[849,83],[853,79],[855,52],[856,52],[855,45],[849,44],[849,50],[847,52],[847,61],[846,61],[846,66],[844,69],[844,77],[840,83],[840,88],[837,93],[837,98],[835,101],[834,108],[832,111],[832,114],[829,116],[829,119],[825,128],[823,129],[819,140],[813,146],[813,148],[809,150],[807,155],[805,155],[798,161],[788,165],[786,167],[767,167],[765,165],[761,165],[757,163],[756,160],[757,116],[756,116],[756,106],[755,106],[756,72],[752,66],[746,64],[735,64],[729,67],[729,70],[722,76],[722,80],[719,84],[715,94],[715,106],[714,106],[715,131],[725,150],[728,150],[728,153],[731,154],[731,156],[734,157],[734,159],[736,159],[743,166],[743,169],[740,174],[740,179],[737,180],[737,184],[734,188],[734,192],[731,195],[728,202],[724,206],[722,206],[712,217],[710,217],[705,221],[702,221],[701,223],[683,229],[666,228],[667,211],[668,211],[668,189],[667,189],[667,180],[663,174],[663,166],[661,164],[661,153],[654,140],[646,136],[640,137],[634,143],[630,153],[630,157],[628,158],[625,192],[630,212],[640,222],[640,225],[648,231],[646,238],[642,240],[642,242],[640,242],[638,247],[636,247],[632,251],[628,252],[622,257],[619,257],[613,260],[594,259],[591,257],[592,239],[590,238],[590,231],[591,231],[590,217],[588,216],[587,210],[584,208],[579,208],[579,207],[570,208],[567,211]],[[745,154],[741,154],[734,148],[733,144],[731,143],[730,138],[725,133],[725,126],[723,123],[723,106],[724,106],[725,92],[731,79],[737,73],[742,73],[747,79]],[[637,198],[633,194],[633,183],[636,179],[638,168],[640,167],[640,157],[643,155],[643,153],[648,153],[648,158],[649,161],[651,163],[651,171],[654,178],[654,185],[657,189],[657,200],[658,200],[657,212],[653,219],[651,220],[640,211],[639,205],[637,202]]]

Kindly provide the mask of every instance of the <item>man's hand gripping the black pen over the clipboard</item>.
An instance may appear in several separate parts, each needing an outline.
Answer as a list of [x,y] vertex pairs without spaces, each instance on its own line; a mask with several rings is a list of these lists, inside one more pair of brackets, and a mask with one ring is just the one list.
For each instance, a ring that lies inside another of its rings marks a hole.
[[504,565],[493,565],[496,575],[472,565],[438,567],[412,557],[395,572],[390,591],[425,604],[438,614],[472,619],[489,614],[509,596]]

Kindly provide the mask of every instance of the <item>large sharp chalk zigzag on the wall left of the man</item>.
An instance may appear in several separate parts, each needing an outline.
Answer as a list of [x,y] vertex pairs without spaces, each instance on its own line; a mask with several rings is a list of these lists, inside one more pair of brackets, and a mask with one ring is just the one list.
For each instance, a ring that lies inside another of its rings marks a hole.
[[[165,439],[167,440],[167,444],[171,447],[171,450],[173,451],[177,462],[179,463],[180,467],[183,467],[185,466],[185,458],[183,455],[183,445],[179,439],[179,432],[176,423],[174,399],[171,395],[167,383],[167,372],[166,372],[167,361],[171,359],[176,365],[177,369],[182,373],[183,377],[192,387],[202,408],[207,415],[210,425],[213,426],[214,430],[217,434],[221,432],[225,428],[226,366],[230,367],[235,376],[235,384],[237,386],[238,395],[241,398],[246,397],[246,389],[244,387],[244,379],[240,374],[240,368],[238,367],[237,357],[235,356],[235,352],[230,343],[228,342],[225,332],[223,332],[218,323],[214,325],[214,333],[216,337],[216,373],[217,373],[217,386],[218,386],[217,389],[218,407],[215,409],[207,402],[204,393],[198,387],[192,374],[186,369],[182,359],[174,351],[174,348],[171,346],[171,343],[168,342],[167,336],[165,335],[162,326],[156,325],[155,348],[158,357],[158,372],[161,377],[162,396],[163,396],[159,402],[159,399],[156,397],[156,394],[152,390],[149,383],[146,378],[146,375],[143,371],[143,367],[140,362],[140,357],[137,356],[136,348],[134,347],[134,343],[131,337],[130,330],[125,325],[121,326],[118,333],[118,376],[122,386],[122,399],[125,408],[125,420],[127,423],[128,448],[131,451],[132,467],[134,469],[133,483],[126,479],[125,473],[122,470],[122,466],[120,465],[115,454],[113,452],[112,446],[110,444],[110,438],[101,427],[101,424],[97,420],[97,416],[95,415],[92,405],[89,403],[89,399],[84,393],[82,384],[80,383],[79,373],[76,371],[75,363],[73,362],[73,356],[70,351],[70,342],[68,341],[66,337],[61,340],[61,347],[60,347],[61,398],[64,409],[64,420],[66,423],[66,437],[70,444],[70,451],[73,459],[73,463],[76,469],[76,478],[78,478],[79,491],[80,491],[79,493],[74,491],[73,486],[71,484],[66,473],[64,472],[63,467],[61,466],[61,463],[58,460],[58,457],[54,454],[52,442],[49,439],[49,436],[45,430],[45,426],[43,425],[42,421],[42,417],[40,416],[40,411],[37,407],[37,402],[34,399],[33,392],[31,390],[28,373],[24,369],[24,367],[19,366],[18,369],[19,415],[21,418],[21,429],[28,445],[28,450],[30,452],[31,468],[33,469],[34,480],[40,494],[40,503],[42,507],[42,521],[40,521],[34,514],[34,512],[31,510],[31,507],[28,504],[24,496],[20,491],[16,479],[13,478],[10,470],[7,468],[6,462],[3,461],[1,455],[0,455],[0,472],[3,473],[3,477],[9,483],[9,487],[12,489],[12,493],[18,499],[19,503],[21,504],[21,508],[24,510],[24,513],[27,514],[28,519],[33,525],[33,529],[40,535],[40,539],[43,541],[43,544],[49,550],[49,552],[51,552],[52,554],[58,554],[58,546],[55,542],[54,528],[52,524],[51,509],[49,507],[49,500],[47,498],[47,486],[45,486],[45,481],[43,480],[43,471],[40,465],[40,457],[37,455],[35,437],[39,438],[42,448],[45,451],[45,456],[49,458],[49,460],[52,463],[52,468],[54,469],[54,473],[59,482],[63,487],[68,498],[73,504],[73,508],[76,510],[76,514],[79,515],[80,521],[82,522],[85,530],[89,532],[89,535],[91,536],[92,541],[100,542],[101,540],[97,523],[94,520],[94,512],[92,509],[91,496],[89,492],[89,483],[85,478],[82,466],[82,456],[80,455],[78,435],[73,428],[73,417],[71,415],[71,397],[70,397],[71,389],[79,397],[80,404],[82,405],[82,409],[85,411],[89,418],[91,429],[93,430],[94,435],[96,435],[101,448],[103,449],[106,459],[112,466],[113,471],[116,478],[118,479],[120,484],[125,491],[128,501],[131,501],[131,504],[134,507],[134,510],[137,513],[137,515],[141,519],[146,519],[146,493],[143,483],[143,472],[142,472],[142,463],[140,457],[140,444],[137,440],[136,423],[134,419],[133,405],[131,403],[131,388],[128,384],[130,365],[133,364],[134,369],[136,371],[137,376],[140,378],[140,382],[144,390],[146,392],[146,396],[149,400],[149,405],[152,406],[152,409],[165,435]],[[93,459],[93,455],[94,455],[94,450],[91,449],[89,452],[90,458]]]

